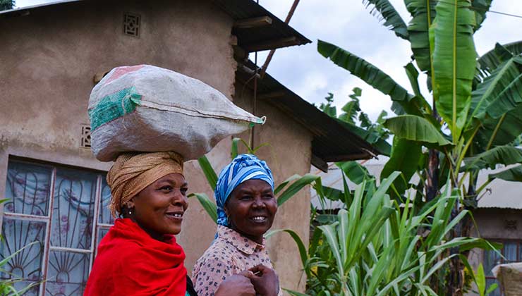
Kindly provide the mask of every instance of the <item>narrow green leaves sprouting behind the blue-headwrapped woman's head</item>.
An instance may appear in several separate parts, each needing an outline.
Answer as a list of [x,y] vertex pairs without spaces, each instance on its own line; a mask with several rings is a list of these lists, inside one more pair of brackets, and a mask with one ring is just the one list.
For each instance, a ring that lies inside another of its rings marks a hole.
[[[238,145],[243,144],[247,149],[249,154],[255,154],[262,147],[269,147],[269,144],[261,144],[258,147],[252,148],[249,146],[247,142],[242,140],[241,138],[233,138],[232,146],[231,146],[231,159],[234,159],[238,156]],[[207,182],[212,190],[216,187],[217,183],[217,173],[212,168],[212,164],[207,159],[207,156],[202,156],[198,159],[198,163],[207,178]],[[284,180],[281,184],[276,185],[274,188],[274,195],[277,198],[277,205],[281,206],[289,199],[294,197],[300,190],[302,190],[307,185],[310,185],[317,181],[319,176],[313,175],[311,173],[307,173],[305,175],[291,175],[289,178]],[[203,209],[209,214],[212,221],[217,222],[217,206],[208,195],[205,193],[191,193],[188,197],[196,197]]]

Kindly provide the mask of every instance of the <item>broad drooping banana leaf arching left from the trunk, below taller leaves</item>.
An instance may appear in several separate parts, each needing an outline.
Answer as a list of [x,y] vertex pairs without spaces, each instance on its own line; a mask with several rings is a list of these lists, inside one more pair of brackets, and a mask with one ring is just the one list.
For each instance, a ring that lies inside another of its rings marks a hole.
[[388,118],[384,126],[391,130],[395,137],[419,142],[428,148],[442,150],[442,147],[452,145],[430,121],[419,116],[402,115]]

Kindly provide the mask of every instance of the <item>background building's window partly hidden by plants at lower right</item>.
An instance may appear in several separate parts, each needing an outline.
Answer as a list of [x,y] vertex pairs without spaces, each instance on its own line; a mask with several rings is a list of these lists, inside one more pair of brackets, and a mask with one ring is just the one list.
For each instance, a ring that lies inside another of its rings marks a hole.
[[[494,251],[485,250],[484,251],[484,263],[482,264],[484,266],[484,273],[486,274],[486,284],[487,287],[490,287],[492,283],[499,282],[494,278],[493,273],[491,270],[494,266],[497,266],[498,264],[504,264],[504,263],[513,263],[513,262],[520,262],[522,261],[522,241],[520,240],[496,240],[497,242],[502,243],[504,245],[502,247],[502,258],[500,254]],[[487,288],[486,288],[487,290]],[[500,291],[500,287],[494,290],[491,296],[501,296],[502,292]]]

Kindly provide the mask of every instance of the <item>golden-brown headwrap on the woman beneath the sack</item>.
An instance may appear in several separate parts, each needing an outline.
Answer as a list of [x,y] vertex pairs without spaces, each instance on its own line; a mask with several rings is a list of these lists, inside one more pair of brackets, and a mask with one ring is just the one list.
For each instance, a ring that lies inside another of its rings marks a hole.
[[170,173],[183,174],[183,157],[176,152],[124,153],[118,156],[107,173],[112,216],[116,218],[116,212],[121,213],[121,206]]

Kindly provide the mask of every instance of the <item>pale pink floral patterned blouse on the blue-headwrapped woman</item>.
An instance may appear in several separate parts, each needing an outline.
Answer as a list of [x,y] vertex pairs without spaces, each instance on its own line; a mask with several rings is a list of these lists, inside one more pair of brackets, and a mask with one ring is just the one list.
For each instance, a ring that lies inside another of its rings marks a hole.
[[[205,251],[192,271],[198,296],[214,296],[219,284],[228,276],[250,269],[258,264],[273,268],[265,249],[231,228],[217,226],[217,238]],[[279,290],[279,296],[283,295]]]

